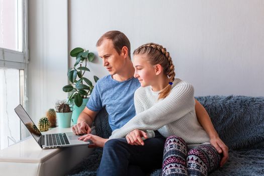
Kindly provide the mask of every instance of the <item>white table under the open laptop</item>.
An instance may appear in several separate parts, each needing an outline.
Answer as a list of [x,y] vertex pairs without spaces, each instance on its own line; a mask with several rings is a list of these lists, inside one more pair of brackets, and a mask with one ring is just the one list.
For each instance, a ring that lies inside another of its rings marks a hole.
[[[70,128],[57,127],[45,133],[69,131]],[[65,175],[92,151],[87,145],[41,149],[30,136],[0,150],[0,175]]]

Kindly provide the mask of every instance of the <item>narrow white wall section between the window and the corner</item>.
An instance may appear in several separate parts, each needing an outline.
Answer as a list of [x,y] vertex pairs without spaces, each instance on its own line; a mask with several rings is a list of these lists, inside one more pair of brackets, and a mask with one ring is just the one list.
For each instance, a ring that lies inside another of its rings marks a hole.
[[67,1],[28,1],[28,112],[38,122],[56,100],[67,98]]

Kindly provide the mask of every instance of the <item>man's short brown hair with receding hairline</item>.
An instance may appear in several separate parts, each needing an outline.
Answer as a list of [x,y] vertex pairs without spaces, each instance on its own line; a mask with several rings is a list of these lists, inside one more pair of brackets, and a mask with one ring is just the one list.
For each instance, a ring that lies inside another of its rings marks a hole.
[[100,46],[104,39],[112,40],[114,48],[116,49],[118,54],[121,54],[121,50],[122,50],[123,46],[126,46],[128,48],[128,56],[129,56],[129,58],[131,58],[131,56],[130,56],[130,42],[124,33],[120,32],[120,31],[108,31],[104,35],[102,35],[102,37],[100,37],[100,39],[97,41],[96,46],[97,47]]

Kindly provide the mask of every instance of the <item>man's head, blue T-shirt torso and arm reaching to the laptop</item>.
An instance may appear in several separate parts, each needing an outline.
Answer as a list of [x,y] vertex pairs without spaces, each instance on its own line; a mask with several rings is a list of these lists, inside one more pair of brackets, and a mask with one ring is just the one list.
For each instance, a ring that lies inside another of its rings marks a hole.
[[90,127],[104,106],[112,130],[122,127],[135,116],[133,98],[140,83],[133,77],[128,38],[119,31],[109,31],[99,39],[97,49],[110,75],[98,80],[89,102],[78,117],[77,125],[72,127],[77,135],[91,132]]

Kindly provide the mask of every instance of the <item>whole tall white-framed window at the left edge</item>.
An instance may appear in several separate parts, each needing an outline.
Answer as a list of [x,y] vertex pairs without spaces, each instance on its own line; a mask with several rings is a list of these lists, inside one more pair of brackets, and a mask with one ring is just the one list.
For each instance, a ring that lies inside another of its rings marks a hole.
[[14,108],[25,106],[27,38],[27,0],[0,0],[0,149],[25,138]]

